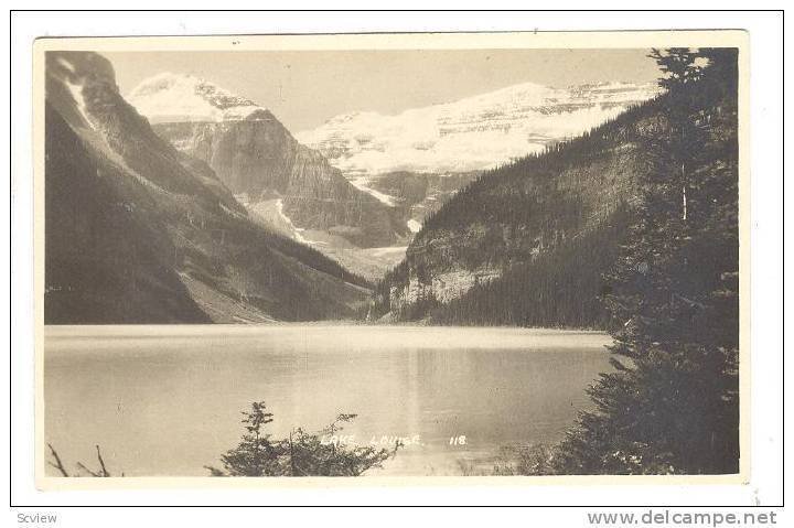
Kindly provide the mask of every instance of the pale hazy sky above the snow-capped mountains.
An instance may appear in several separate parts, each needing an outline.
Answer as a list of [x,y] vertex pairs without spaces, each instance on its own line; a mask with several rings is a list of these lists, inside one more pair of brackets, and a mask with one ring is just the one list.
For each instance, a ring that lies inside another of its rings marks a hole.
[[162,72],[203,77],[270,109],[292,132],[352,111],[399,114],[521,83],[566,87],[658,77],[648,50],[104,53],[122,95]]

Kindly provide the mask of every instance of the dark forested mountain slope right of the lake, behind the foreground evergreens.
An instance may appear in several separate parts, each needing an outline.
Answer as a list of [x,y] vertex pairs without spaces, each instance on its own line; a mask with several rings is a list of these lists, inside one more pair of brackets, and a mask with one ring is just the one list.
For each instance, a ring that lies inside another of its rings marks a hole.
[[[612,291],[608,272],[653,185],[661,138],[672,133],[669,97],[461,188],[428,216],[404,261],[377,284],[371,317],[605,327],[599,298]],[[736,116],[734,93],[705,101],[695,116],[706,136],[698,165],[689,168],[698,181],[715,174],[736,181]],[[705,187],[693,184],[690,194],[691,211],[711,207],[711,198],[719,205]]]

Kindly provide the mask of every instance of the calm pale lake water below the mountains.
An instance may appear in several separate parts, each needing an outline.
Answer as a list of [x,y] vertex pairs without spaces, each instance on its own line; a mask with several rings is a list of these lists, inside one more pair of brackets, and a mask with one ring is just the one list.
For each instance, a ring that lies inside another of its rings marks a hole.
[[[64,463],[201,475],[264,400],[276,437],[357,413],[368,444],[419,437],[372,475],[487,472],[500,448],[554,441],[610,369],[597,332],[404,326],[49,326],[45,440]],[[450,438],[465,437],[464,445]],[[479,470],[478,470],[479,468]]]

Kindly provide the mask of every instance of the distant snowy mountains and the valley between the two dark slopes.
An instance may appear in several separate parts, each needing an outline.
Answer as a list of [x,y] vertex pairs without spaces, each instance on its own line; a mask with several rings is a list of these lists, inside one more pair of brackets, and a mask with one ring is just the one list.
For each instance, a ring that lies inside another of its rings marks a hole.
[[264,225],[376,281],[428,215],[483,170],[577,136],[654,93],[526,84],[397,116],[337,116],[294,136],[266,107],[190,75],[155,75],[127,98]]

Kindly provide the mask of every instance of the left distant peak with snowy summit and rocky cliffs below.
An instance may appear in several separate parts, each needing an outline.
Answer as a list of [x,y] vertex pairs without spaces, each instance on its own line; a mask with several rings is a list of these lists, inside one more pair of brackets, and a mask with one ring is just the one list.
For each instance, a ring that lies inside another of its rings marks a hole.
[[357,190],[247,98],[194,76],[164,73],[143,80],[127,99],[160,137],[208,164],[250,209],[286,217],[281,227],[296,239],[323,249],[323,239],[301,235],[319,230],[367,248],[408,233],[401,209]]

